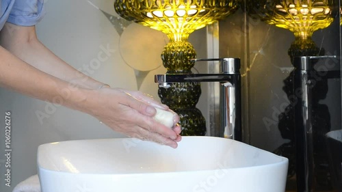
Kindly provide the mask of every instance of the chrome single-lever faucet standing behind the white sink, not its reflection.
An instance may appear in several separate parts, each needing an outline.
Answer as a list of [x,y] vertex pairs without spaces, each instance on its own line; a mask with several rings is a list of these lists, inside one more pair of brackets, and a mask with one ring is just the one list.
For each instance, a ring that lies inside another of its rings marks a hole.
[[220,137],[242,140],[241,134],[241,74],[239,58],[195,59],[196,61],[220,61],[218,74],[156,74],[155,83],[168,88],[170,83],[220,82],[221,130]]

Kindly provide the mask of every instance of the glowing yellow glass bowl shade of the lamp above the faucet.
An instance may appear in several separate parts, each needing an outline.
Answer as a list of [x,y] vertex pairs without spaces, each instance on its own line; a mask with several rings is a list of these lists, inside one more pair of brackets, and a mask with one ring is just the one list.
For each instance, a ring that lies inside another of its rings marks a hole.
[[235,12],[239,0],[116,0],[116,12],[136,23],[166,33],[170,40],[189,35]]

